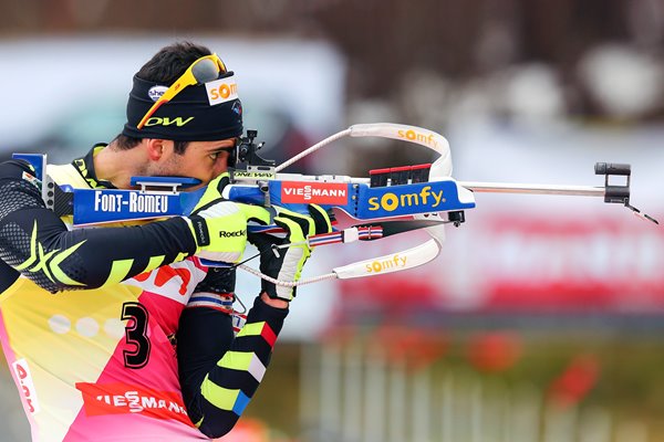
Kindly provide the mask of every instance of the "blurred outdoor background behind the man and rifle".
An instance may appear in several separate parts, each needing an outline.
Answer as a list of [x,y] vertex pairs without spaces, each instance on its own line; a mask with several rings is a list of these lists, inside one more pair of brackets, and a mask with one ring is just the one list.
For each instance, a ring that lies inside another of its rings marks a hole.
[[[352,124],[425,127],[461,181],[601,186],[664,218],[664,0],[0,0],[0,156],[111,140],[132,76],[190,39],[238,75],[280,160]],[[290,171],[429,161],[340,140]],[[477,193],[434,262],[304,286],[259,393],[224,440],[664,441],[664,234],[591,197]],[[417,233],[317,250],[308,275]],[[249,303],[257,281],[242,276]],[[75,368],[72,368],[75,369]],[[0,377],[2,441],[29,440]]]

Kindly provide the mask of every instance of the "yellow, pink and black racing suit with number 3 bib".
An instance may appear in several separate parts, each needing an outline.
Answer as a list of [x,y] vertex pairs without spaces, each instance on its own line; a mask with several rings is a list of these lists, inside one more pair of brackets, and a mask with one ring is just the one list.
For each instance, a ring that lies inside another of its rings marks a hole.
[[[48,173],[112,188],[94,171],[102,148]],[[72,228],[44,206],[32,167],[0,164],[0,340],[33,441],[193,441],[232,428],[288,309],[257,297],[235,337],[235,274],[195,250],[181,218]]]

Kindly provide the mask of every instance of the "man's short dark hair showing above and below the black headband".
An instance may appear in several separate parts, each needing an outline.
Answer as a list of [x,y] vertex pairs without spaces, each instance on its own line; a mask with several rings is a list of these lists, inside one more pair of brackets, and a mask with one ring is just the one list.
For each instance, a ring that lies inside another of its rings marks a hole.
[[[212,52],[200,44],[189,41],[176,42],[164,46],[136,73],[142,80],[162,83],[170,86],[196,60]],[[136,147],[142,138],[127,137],[120,134],[114,141],[118,149],[126,150]],[[184,154],[189,141],[175,141],[176,154]]]

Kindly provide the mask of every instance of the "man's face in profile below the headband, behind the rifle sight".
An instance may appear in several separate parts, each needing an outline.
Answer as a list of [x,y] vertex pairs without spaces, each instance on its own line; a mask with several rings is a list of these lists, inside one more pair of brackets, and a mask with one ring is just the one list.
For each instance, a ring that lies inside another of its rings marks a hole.
[[170,155],[152,165],[151,175],[197,178],[203,187],[228,169],[228,149],[236,144],[235,138],[219,141],[190,141],[184,154],[175,154],[173,141],[165,141]]

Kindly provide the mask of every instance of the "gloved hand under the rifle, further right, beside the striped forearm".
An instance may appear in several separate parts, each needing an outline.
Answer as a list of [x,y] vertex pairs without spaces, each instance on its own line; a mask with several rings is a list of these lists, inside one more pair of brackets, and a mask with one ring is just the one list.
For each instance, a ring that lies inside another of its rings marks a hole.
[[[260,271],[280,281],[299,281],[302,267],[311,255],[307,238],[332,231],[330,217],[320,206],[309,206],[309,217],[278,208],[273,222],[286,230],[283,239],[263,233],[249,233],[249,242],[255,244],[260,254]],[[273,245],[288,244],[288,248]],[[297,287],[276,286],[262,280],[261,287],[270,298],[291,301]]]

